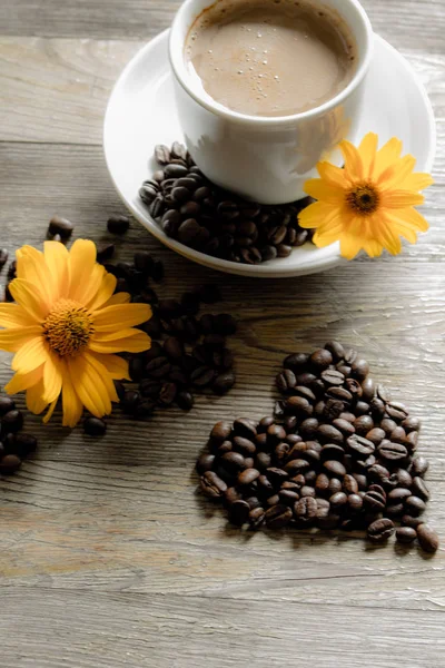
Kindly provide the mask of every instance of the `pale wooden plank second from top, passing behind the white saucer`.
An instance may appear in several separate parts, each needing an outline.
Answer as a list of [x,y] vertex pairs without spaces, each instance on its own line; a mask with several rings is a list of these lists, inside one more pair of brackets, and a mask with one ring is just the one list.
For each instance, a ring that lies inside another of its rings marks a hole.
[[[0,39],[0,140],[97,144],[112,85],[142,46],[91,39]],[[445,118],[444,53],[404,51]]]

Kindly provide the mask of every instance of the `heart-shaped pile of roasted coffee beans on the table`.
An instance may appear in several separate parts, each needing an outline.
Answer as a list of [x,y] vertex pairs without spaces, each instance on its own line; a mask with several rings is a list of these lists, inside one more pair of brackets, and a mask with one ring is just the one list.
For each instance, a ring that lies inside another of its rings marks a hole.
[[337,342],[286,357],[275,418],[214,426],[197,463],[204,493],[237,525],[366,530],[374,543],[396,534],[437,550],[421,519],[429,499],[421,423],[368,374]]

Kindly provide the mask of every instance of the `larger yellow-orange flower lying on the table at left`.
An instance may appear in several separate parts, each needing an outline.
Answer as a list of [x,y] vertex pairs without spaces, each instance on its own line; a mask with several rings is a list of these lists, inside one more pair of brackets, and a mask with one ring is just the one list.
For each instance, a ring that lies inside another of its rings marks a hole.
[[128,379],[119,352],[140,353],[150,337],[135,325],[148,321],[147,304],[113,294],[116,278],[96,262],[92,242],[78,239],[69,253],[46,242],[17,252],[14,304],[0,304],[0,348],[16,353],[9,394],[27,392],[27,406],[47,422],[62,395],[63,426],[75,426],[83,406],[102,418],[119,401],[113,380]]

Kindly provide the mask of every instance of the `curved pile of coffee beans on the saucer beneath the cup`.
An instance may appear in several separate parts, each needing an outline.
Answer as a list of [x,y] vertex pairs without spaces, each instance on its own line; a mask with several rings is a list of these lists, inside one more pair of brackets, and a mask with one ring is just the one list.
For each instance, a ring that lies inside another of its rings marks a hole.
[[217,187],[195,165],[186,147],[157,146],[159,170],[139,196],[167,236],[207,255],[244,264],[288,257],[312,239],[298,214],[313,200],[283,206],[247,202]]

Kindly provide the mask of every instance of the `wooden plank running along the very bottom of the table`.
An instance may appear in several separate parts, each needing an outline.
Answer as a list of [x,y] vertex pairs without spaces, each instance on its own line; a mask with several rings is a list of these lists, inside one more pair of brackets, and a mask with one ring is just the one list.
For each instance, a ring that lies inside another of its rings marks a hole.
[[[23,610],[27,616],[23,618]],[[443,616],[126,593],[6,591],[2,667],[441,666]],[[24,620],[24,625],[23,625]],[[4,647],[4,638],[8,641]]]

